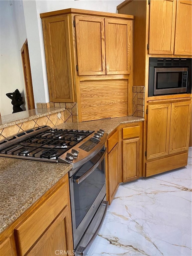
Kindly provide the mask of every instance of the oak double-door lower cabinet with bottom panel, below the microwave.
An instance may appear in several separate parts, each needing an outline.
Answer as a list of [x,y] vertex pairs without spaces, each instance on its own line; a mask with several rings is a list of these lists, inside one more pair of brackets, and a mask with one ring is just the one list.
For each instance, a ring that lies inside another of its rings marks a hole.
[[144,176],[187,165],[191,101],[148,105]]

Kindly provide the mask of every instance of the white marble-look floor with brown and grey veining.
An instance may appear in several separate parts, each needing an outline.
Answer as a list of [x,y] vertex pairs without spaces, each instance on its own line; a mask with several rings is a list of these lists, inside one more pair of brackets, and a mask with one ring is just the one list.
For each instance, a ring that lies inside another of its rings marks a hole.
[[191,160],[167,173],[121,184],[88,256],[190,256]]

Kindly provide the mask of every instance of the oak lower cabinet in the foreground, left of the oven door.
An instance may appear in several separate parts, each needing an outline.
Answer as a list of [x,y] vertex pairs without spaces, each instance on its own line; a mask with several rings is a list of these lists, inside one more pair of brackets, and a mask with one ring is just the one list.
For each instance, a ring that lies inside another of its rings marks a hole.
[[0,234],[0,255],[74,255],[68,174]]

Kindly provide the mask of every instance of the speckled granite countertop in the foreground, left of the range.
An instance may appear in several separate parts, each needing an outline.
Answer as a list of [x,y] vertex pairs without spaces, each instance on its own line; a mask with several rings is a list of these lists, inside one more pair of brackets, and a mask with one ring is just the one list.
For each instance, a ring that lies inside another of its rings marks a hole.
[[72,164],[0,157],[0,233],[71,168]]

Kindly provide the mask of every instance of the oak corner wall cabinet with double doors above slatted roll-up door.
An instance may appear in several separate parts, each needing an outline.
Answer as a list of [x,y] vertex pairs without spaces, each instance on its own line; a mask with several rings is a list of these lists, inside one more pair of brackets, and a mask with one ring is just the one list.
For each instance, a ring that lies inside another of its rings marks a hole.
[[49,97],[77,102],[79,121],[132,115],[132,15],[66,9],[40,14]]

